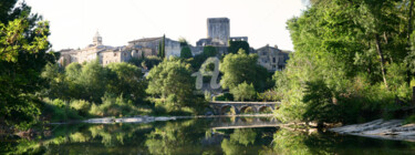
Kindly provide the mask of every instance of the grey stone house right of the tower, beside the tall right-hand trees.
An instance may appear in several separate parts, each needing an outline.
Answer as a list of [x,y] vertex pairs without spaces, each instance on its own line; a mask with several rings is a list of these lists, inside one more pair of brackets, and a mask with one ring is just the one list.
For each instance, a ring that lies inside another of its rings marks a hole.
[[289,51],[282,51],[278,46],[266,45],[256,50],[258,63],[270,72],[281,71],[289,60]]

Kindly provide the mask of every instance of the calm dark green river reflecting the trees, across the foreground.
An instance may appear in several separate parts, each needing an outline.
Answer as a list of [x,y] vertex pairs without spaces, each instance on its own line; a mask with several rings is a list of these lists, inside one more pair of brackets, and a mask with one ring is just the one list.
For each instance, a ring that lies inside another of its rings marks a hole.
[[65,124],[49,130],[31,140],[0,136],[0,154],[415,154],[415,143],[289,131],[269,117]]

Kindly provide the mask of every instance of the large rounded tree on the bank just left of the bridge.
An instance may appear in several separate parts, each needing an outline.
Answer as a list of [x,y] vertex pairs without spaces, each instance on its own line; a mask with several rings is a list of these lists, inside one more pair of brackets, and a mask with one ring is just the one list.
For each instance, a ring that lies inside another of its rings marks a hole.
[[190,64],[178,59],[168,59],[148,72],[146,92],[154,96],[168,99],[173,107],[191,106],[195,79]]

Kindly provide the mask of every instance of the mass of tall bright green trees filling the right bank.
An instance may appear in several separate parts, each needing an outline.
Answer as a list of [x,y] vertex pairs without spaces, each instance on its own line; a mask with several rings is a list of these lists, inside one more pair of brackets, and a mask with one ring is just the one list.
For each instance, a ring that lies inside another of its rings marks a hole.
[[412,9],[406,0],[320,0],[289,20],[295,52],[274,75],[277,115],[351,123],[381,116],[395,96],[407,101]]

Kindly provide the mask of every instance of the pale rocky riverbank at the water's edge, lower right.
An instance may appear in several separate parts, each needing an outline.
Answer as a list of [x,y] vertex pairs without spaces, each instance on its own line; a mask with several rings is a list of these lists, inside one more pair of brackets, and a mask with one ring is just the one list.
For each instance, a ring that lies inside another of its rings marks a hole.
[[404,120],[375,120],[363,124],[333,127],[329,131],[373,138],[415,142],[415,124],[404,124]]

